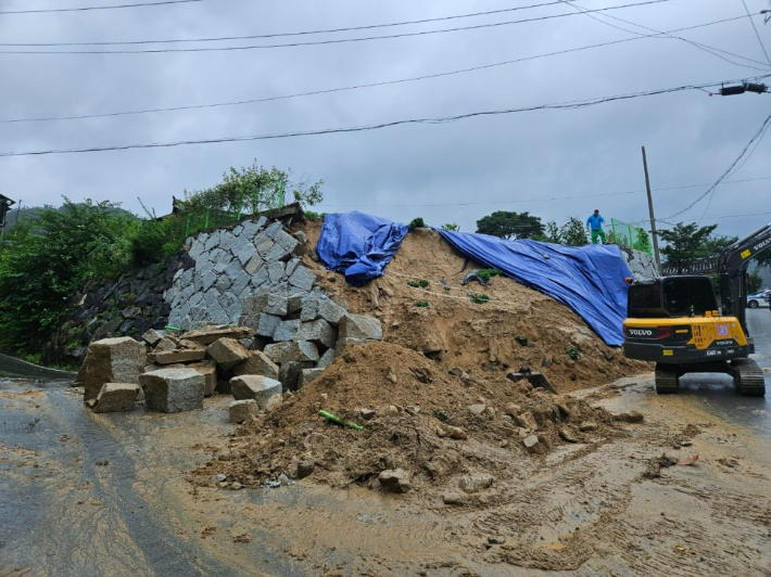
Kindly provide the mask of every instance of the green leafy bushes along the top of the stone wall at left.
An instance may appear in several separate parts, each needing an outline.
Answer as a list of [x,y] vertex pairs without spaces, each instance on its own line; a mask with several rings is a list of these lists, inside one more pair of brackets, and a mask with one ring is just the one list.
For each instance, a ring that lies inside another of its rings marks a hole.
[[235,169],[206,190],[186,192],[175,211],[147,218],[115,203],[64,198],[59,207],[22,213],[0,246],[0,348],[35,354],[59,328],[67,303],[86,281],[115,279],[179,251],[206,227],[276,208],[285,197],[321,202],[323,181],[292,182],[287,171],[255,164]]

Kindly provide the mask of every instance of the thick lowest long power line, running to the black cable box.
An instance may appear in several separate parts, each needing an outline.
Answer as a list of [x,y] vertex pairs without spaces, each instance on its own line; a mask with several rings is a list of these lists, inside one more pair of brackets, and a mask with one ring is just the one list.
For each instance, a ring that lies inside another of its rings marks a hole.
[[[769,75],[771,76],[771,75]],[[352,126],[343,128],[327,128],[321,130],[303,130],[296,132],[282,132],[273,134],[255,134],[247,137],[224,137],[215,139],[201,139],[201,140],[181,140],[176,142],[153,142],[153,143],[139,143],[139,144],[116,144],[110,146],[89,146],[84,149],[54,149],[54,150],[43,150],[43,151],[27,151],[27,152],[3,152],[0,153],[0,157],[8,156],[40,156],[49,154],[75,154],[75,153],[86,153],[86,152],[105,152],[105,151],[125,151],[125,150],[136,150],[136,149],[166,149],[174,146],[184,146],[191,144],[218,144],[224,142],[250,142],[257,140],[278,140],[286,138],[296,138],[296,137],[307,137],[307,136],[321,136],[321,134],[336,134],[336,133],[347,133],[347,132],[364,132],[370,130],[378,130],[381,128],[389,128],[394,126],[413,125],[413,124],[447,124],[463,120],[466,118],[475,118],[482,116],[498,116],[508,115],[522,112],[531,112],[539,110],[573,110],[573,108],[584,108],[589,106],[595,106],[597,104],[603,104],[606,102],[632,100],[642,97],[653,97],[657,94],[667,94],[671,92],[680,92],[683,90],[699,90],[707,87],[718,86],[723,82],[735,82],[737,80],[723,80],[718,82],[708,82],[704,85],[687,85],[673,88],[663,88],[659,90],[650,90],[646,92],[634,92],[630,94],[617,94],[612,97],[602,97],[597,99],[585,99],[569,101],[556,104],[539,104],[533,106],[523,106],[518,108],[504,108],[494,111],[478,111],[465,114],[457,114],[452,116],[440,116],[440,117],[429,117],[429,118],[409,118],[392,120],[388,123],[380,123],[375,125],[364,125],[364,126]],[[771,116],[769,117],[771,119]]]

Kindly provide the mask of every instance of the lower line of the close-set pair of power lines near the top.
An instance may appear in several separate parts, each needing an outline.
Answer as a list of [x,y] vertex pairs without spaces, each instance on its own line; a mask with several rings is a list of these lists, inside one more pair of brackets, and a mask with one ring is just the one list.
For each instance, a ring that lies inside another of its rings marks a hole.
[[[609,10],[622,10],[627,8],[637,8],[650,4],[660,4],[662,2],[669,2],[670,0],[646,0],[644,2],[633,3],[633,4],[622,4],[616,7],[599,8],[593,10],[592,12],[606,12]],[[508,22],[495,22],[491,24],[477,24],[473,26],[458,26],[455,28],[443,28],[440,30],[422,30],[415,33],[400,33],[387,36],[367,36],[359,38],[339,38],[332,40],[312,40],[308,42],[291,42],[283,44],[260,44],[260,46],[245,46],[245,47],[204,47],[204,48],[156,48],[156,49],[146,49],[146,50],[0,50],[0,54],[160,54],[168,52],[224,52],[224,51],[242,51],[242,50],[262,50],[262,49],[273,49],[273,48],[293,48],[302,46],[325,46],[325,44],[339,44],[349,42],[363,42],[368,40],[389,40],[393,38],[408,38],[418,36],[429,36],[434,34],[446,34],[455,33],[460,30],[477,30],[482,28],[494,28],[500,26],[509,26],[513,24],[526,24],[530,22],[541,22],[546,20],[563,18],[569,16],[578,16],[580,14],[576,12],[566,12],[564,14],[553,14],[548,16],[538,16],[533,18],[523,18],[517,21]],[[746,17],[746,16],[743,16]]]

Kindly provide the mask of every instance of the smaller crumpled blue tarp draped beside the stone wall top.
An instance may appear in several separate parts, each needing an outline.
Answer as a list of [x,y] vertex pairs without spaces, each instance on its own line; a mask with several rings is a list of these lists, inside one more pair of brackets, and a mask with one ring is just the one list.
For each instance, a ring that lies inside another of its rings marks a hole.
[[381,277],[407,234],[407,226],[364,213],[324,217],[316,245],[327,268],[345,274],[353,286],[364,286]]

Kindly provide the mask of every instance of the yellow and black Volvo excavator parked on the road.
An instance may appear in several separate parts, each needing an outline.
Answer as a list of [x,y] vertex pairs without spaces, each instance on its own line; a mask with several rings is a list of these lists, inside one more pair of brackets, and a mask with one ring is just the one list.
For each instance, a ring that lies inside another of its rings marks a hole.
[[[766,395],[763,372],[749,358],[755,344],[747,331],[747,265],[771,247],[771,223],[736,241],[718,259],[720,302],[711,281],[684,274],[632,281],[623,352],[656,363],[656,392],[677,393],[685,373],[725,373],[744,396]],[[631,279],[630,279],[631,281]]]

